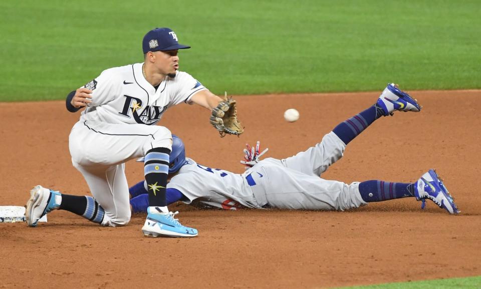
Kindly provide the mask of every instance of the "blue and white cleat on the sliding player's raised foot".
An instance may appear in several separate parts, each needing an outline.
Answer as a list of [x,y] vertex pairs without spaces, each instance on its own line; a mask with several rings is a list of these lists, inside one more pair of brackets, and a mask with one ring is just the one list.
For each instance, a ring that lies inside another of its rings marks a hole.
[[422,107],[416,99],[395,87],[393,83],[388,84],[381,93],[377,105],[383,109],[384,116],[393,115],[395,110],[418,112]]

